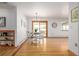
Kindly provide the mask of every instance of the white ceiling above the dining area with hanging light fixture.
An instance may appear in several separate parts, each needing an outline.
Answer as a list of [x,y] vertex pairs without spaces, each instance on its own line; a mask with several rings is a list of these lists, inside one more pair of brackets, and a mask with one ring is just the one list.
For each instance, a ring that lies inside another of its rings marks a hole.
[[25,8],[25,15],[34,17],[36,12],[39,17],[68,17],[68,3],[66,2],[17,2]]

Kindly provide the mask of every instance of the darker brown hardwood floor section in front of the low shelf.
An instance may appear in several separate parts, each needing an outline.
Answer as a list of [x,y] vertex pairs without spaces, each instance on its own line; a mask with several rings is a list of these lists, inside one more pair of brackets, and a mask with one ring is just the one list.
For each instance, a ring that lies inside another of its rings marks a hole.
[[0,46],[0,56],[12,56],[19,48],[14,46]]

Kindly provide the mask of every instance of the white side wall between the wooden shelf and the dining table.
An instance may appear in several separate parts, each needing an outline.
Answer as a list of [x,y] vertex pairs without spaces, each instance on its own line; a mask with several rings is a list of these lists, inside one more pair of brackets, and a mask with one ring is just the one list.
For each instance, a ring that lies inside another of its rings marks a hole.
[[[24,26],[25,24],[25,26]],[[21,5],[17,6],[17,37],[16,37],[16,47],[21,45],[27,39],[27,20],[24,16],[24,9]]]

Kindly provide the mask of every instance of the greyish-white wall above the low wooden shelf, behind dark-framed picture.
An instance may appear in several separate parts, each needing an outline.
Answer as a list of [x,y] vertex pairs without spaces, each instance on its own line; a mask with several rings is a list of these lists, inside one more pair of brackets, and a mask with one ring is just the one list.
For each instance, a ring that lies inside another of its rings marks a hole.
[[6,17],[6,27],[0,27],[0,29],[16,29],[16,10],[14,7],[1,4],[0,17]]

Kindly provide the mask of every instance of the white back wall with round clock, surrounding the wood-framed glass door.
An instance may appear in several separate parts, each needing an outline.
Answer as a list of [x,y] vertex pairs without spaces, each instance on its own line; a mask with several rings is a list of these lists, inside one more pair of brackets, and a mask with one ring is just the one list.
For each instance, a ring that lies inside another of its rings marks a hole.
[[[42,20],[48,21],[48,37],[68,37],[68,31],[62,31],[62,23],[61,19],[53,19],[53,18],[41,18]],[[28,18],[29,31],[32,32],[32,20],[33,18]],[[58,21],[59,20],[59,21]],[[52,23],[57,23],[57,28],[52,28]]]

